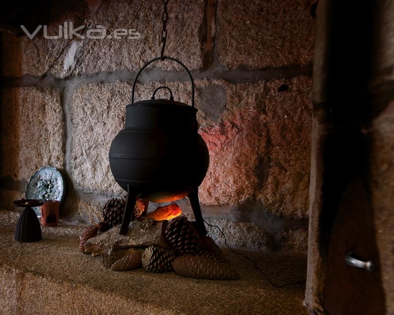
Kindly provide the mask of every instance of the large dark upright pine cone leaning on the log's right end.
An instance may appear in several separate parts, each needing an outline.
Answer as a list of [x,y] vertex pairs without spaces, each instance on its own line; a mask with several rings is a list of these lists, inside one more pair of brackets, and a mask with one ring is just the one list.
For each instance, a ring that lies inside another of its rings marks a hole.
[[197,254],[202,245],[196,228],[186,217],[177,217],[168,222],[165,238],[177,256]]

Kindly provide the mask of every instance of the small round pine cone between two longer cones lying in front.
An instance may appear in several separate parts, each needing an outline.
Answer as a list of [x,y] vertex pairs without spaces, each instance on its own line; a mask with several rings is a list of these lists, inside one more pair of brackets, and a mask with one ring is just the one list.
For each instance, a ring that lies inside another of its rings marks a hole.
[[142,254],[142,267],[152,272],[171,271],[174,258],[175,255],[171,250],[160,246],[149,246]]

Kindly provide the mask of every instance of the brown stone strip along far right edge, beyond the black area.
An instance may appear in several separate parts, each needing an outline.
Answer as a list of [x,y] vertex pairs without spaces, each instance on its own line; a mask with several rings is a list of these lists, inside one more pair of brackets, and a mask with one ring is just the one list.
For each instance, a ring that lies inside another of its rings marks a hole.
[[379,1],[371,91],[371,190],[386,314],[394,314],[394,1]]

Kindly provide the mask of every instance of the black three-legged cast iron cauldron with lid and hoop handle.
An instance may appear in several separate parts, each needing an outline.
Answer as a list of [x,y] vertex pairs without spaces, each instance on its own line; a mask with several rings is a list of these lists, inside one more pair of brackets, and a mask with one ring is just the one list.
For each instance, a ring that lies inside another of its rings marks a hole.
[[[177,59],[192,82],[192,106],[173,100],[167,86],[160,86],[150,100],[134,103],[134,89],[141,72],[154,61],[147,62],[135,77],[132,103],[126,106],[125,127],[109,149],[109,164],[115,180],[128,192],[120,234],[125,235],[132,220],[137,197],[164,202],[188,197],[196,218],[196,228],[206,234],[198,186],[209,164],[208,148],[197,133],[197,109],[194,107],[194,81],[190,71]],[[155,99],[159,89],[169,91],[169,100]]]

